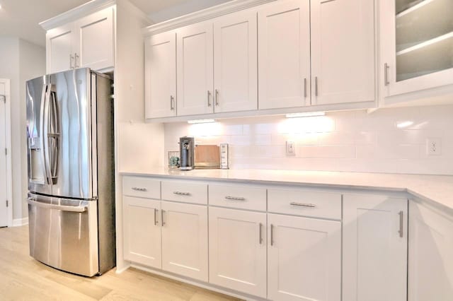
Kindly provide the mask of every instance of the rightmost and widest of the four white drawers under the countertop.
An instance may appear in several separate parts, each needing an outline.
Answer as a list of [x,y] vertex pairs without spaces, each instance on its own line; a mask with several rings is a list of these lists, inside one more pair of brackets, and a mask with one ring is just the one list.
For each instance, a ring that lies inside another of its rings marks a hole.
[[341,219],[341,194],[335,192],[269,189],[268,200],[269,212]]

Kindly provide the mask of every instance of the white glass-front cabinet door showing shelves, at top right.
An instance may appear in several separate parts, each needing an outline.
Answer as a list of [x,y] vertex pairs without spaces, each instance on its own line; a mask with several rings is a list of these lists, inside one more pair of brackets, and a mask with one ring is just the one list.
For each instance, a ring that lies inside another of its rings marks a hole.
[[453,84],[453,0],[380,3],[384,96]]

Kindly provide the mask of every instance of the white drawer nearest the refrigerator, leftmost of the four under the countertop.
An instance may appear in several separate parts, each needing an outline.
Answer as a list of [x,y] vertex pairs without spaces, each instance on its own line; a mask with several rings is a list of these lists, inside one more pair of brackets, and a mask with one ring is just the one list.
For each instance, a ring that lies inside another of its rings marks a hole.
[[122,178],[122,194],[149,199],[161,198],[161,182],[147,177],[126,176]]

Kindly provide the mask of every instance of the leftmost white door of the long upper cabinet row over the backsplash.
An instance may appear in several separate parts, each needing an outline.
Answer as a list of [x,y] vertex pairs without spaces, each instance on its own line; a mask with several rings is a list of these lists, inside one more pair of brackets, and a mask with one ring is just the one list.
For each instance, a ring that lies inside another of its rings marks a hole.
[[176,116],[176,33],[145,40],[145,118]]

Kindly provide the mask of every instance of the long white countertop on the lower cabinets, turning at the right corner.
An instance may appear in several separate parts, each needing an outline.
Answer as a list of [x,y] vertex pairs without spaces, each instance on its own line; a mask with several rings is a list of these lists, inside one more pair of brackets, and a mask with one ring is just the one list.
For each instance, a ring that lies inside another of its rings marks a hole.
[[398,175],[371,172],[316,172],[299,170],[123,170],[122,175],[164,176],[178,179],[222,179],[256,184],[309,184],[310,186],[408,192],[417,198],[453,210],[453,176]]

